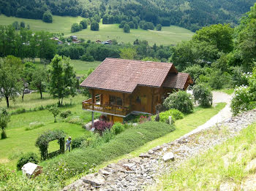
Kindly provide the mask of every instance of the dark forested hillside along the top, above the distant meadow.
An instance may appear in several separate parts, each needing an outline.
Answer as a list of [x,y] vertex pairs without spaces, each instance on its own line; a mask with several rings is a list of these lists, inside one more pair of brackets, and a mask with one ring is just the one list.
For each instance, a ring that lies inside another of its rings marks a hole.
[[7,16],[42,19],[45,11],[53,15],[93,17],[112,15],[115,23],[120,18],[139,17],[162,26],[182,26],[192,31],[215,23],[236,25],[253,0],[0,0],[0,11]]

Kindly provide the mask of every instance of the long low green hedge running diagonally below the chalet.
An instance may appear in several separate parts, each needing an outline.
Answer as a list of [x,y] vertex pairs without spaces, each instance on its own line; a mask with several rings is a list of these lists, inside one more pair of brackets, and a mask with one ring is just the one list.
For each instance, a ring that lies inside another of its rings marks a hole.
[[[115,139],[99,147],[82,147],[48,160],[45,162],[45,171],[48,171],[48,168],[51,168],[53,165],[58,165],[59,160],[63,160],[67,163],[67,168],[72,169],[70,176],[82,173],[93,165],[99,165],[105,161],[113,160],[118,156],[132,152],[148,141],[164,136],[173,130],[175,130],[173,125],[167,125],[163,122],[145,122],[124,130]],[[86,165],[84,165],[85,163]]]

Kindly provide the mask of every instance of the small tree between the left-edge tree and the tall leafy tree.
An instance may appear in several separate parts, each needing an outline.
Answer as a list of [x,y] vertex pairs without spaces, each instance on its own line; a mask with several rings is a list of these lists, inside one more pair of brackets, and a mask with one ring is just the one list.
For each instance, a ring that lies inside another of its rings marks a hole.
[[31,86],[39,90],[42,99],[42,92],[45,90],[46,82],[48,81],[47,72],[44,68],[38,67],[31,79]]

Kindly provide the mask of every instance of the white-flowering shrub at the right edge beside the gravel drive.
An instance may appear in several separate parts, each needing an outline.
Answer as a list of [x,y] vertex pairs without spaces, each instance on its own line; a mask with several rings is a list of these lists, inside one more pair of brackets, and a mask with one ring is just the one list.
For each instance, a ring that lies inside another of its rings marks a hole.
[[253,101],[253,95],[250,93],[250,88],[247,86],[237,87],[234,91],[230,106],[231,112],[233,112],[234,115],[253,109],[255,107],[255,101]]

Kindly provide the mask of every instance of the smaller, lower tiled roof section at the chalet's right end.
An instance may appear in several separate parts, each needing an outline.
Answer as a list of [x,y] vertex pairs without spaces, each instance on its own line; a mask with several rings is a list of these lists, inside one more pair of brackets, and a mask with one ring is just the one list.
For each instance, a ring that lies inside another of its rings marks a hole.
[[189,80],[192,81],[191,77],[187,73],[181,73],[178,74],[172,74],[169,73],[167,75],[167,78],[165,79],[165,82],[162,84],[163,87],[170,87],[175,89],[184,89],[184,86]]

